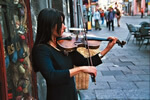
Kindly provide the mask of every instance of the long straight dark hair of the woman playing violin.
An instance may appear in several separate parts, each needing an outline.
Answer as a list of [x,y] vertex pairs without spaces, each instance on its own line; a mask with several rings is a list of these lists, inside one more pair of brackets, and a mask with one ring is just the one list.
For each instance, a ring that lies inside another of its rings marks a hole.
[[57,25],[57,33],[60,34],[62,27],[62,18],[64,14],[53,8],[43,9],[37,19],[37,34],[34,46],[37,44],[46,44],[51,40],[52,30]]

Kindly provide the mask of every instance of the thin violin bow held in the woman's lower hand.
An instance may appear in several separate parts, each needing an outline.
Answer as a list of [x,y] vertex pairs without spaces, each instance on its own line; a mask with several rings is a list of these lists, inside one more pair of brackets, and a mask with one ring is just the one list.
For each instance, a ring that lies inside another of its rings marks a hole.
[[[78,3],[78,6],[79,6],[79,9],[80,9],[80,14],[81,14],[81,18],[82,18],[82,22],[83,22],[83,28],[84,28],[84,41],[85,41],[85,48],[87,48],[88,50],[88,54],[89,54],[89,58],[87,58],[87,61],[88,61],[88,65],[90,66],[93,66],[93,62],[92,62],[92,58],[91,58],[91,54],[90,54],[90,49],[89,49],[89,44],[88,44],[88,39],[87,39],[87,31],[86,31],[86,28],[85,28],[85,21],[84,21],[84,18],[83,18],[83,14],[82,14],[82,11],[81,11],[81,5]],[[95,80],[95,76],[91,74],[91,79],[92,79],[92,82],[94,82],[94,84],[96,85],[96,80]]]

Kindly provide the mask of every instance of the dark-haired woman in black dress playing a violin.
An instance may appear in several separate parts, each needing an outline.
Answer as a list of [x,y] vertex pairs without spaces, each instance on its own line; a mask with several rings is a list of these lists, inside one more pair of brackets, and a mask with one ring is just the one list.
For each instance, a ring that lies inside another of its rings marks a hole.
[[[56,9],[43,9],[37,19],[37,34],[32,49],[32,66],[35,72],[41,72],[47,83],[47,100],[77,100],[74,76],[79,72],[96,77],[97,65],[101,64],[100,55],[105,55],[116,43],[112,41],[100,53],[91,57],[93,66],[88,66],[87,58],[77,51],[68,55],[57,48],[57,37],[61,37],[66,27],[65,16]],[[79,66],[75,67],[74,65]]]

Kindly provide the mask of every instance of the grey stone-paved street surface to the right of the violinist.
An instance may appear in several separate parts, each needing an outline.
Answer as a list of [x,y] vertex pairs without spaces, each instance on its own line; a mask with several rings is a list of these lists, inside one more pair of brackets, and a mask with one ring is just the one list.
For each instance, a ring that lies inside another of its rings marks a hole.
[[[122,41],[128,34],[126,23],[142,21],[150,22],[150,18],[123,16],[121,26],[115,24],[115,31],[101,26],[101,31],[90,33],[105,38],[115,36]],[[87,90],[79,90],[81,100],[150,100],[150,45],[139,50],[139,45],[132,39],[123,48],[116,44],[103,58],[103,64],[97,66],[96,85],[90,80]],[[102,42],[100,50],[106,44],[106,41]]]

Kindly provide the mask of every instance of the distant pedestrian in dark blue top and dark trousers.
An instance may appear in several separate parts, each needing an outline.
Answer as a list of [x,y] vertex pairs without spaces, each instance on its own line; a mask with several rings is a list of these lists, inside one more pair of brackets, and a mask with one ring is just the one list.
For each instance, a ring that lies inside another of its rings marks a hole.
[[110,31],[110,24],[112,26],[112,31],[114,31],[114,17],[115,17],[115,11],[112,7],[109,8],[109,13],[108,13],[108,28]]

